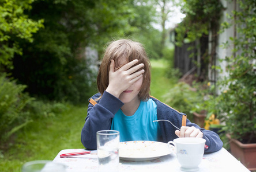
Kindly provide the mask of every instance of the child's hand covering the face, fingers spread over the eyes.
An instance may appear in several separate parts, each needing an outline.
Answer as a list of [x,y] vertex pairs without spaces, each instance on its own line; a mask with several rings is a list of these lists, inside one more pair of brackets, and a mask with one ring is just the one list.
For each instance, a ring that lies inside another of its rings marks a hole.
[[[135,65],[137,62],[138,60],[135,59],[115,71],[115,62],[111,60],[109,83],[106,91],[119,98],[123,91],[140,79],[144,73],[144,69],[138,72],[136,71],[144,67],[144,64]],[[133,65],[135,66],[131,68]]]

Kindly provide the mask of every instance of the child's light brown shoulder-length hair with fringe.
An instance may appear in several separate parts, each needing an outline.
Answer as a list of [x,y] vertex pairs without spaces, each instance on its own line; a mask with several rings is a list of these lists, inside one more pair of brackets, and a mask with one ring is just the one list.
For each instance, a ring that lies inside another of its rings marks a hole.
[[[145,70],[143,74],[143,83],[140,92],[138,93],[139,99],[148,100],[150,97],[150,81],[151,81],[151,65],[145,49],[140,42],[134,42],[128,39],[112,41],[106,48],[104,57],[101,61],[99,73],[97,75],[97,88],[101,95],[108,87],[108,75],[110,71],[111,60],[115,61],[115,67],[119,67],[119,58],[126,57],[127,61],[138,59],[137,64],[144,64],[142,69]],[[136,64],[136,65],[137,65]],[[99,97],[100,99],[100,97]]]

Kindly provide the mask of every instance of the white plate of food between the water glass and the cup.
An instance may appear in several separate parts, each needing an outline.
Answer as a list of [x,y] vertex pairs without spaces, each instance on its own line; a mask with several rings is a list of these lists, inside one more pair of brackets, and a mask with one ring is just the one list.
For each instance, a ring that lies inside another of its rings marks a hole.
[[121,142],[119,158],[127,161],[149,161],[174,152],[174,146],[153,141]]

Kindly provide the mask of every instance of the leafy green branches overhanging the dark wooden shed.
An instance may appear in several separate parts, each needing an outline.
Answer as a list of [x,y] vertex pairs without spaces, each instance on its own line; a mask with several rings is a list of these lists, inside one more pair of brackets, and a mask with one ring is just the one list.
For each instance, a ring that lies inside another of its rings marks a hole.
[[177,32],[176,44],[182,45],[185,38],[190,42],[208,35],[209,30],[214,30],[213,35],[217,36],[219,19],[223,5],[218,0],[183,0],[182,13],[186,14],[182,23],[175,29]]

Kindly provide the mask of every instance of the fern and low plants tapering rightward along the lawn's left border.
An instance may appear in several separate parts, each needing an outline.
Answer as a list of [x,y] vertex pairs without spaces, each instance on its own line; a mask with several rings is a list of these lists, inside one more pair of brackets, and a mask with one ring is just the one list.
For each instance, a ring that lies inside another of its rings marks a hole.
[[33,119],[52,118],[69,109],[69,105],[58,102],[35,100],[23,93],[26,85],[16,84],[0,74],[0,142],[1,146],[9,137]]

